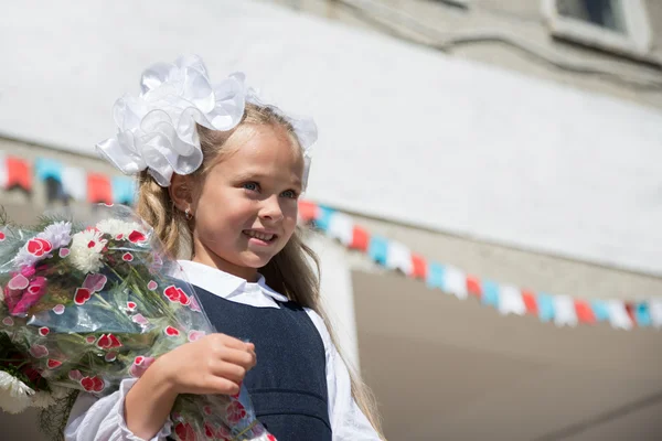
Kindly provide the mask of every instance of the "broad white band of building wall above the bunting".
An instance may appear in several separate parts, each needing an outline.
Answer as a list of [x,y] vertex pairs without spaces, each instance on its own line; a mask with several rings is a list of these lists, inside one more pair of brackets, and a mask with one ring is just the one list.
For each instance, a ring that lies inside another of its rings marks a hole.
[[7,4],[0,133],[92,154],[142,68],[197,52],[317,118],[313,200],[662,273],[656,110],[253,1],[140,4]]

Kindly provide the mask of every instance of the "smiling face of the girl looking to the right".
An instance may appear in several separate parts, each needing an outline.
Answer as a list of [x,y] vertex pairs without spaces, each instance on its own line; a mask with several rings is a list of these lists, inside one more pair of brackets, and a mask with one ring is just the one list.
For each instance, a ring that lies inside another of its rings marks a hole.
[[192,205],[193,260],[254,280],[295,232],[303,158],[280,127],[239,130]]

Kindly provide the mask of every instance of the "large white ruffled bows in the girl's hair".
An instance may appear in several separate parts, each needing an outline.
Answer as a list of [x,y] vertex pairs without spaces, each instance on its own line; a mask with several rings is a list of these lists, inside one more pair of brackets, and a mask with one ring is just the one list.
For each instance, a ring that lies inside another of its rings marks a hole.
[[[170,185],[172,173],[190,174],[202,164],[196,123],[212,130],[232,130],[242,120],[247,101],[265,106],[255,90],[246,87],[244,74],[229,75],[212,85],[196,55],[149,67],[142,73],[140,87],[137,97],[125,95],[115,103],[117,136],[96,148],[126,174],[147,169],[161,186]],[[269,107],[295,129],[305,153],[306,182],[317,126],[312,119],[289,118]]]

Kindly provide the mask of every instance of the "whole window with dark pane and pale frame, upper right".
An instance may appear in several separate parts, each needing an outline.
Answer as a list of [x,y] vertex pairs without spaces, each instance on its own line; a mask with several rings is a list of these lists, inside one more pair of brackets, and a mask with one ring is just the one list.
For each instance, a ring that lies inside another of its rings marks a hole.
[[543,0],[543,13],[554,36],[639,57],[651,52],[643,0]]

